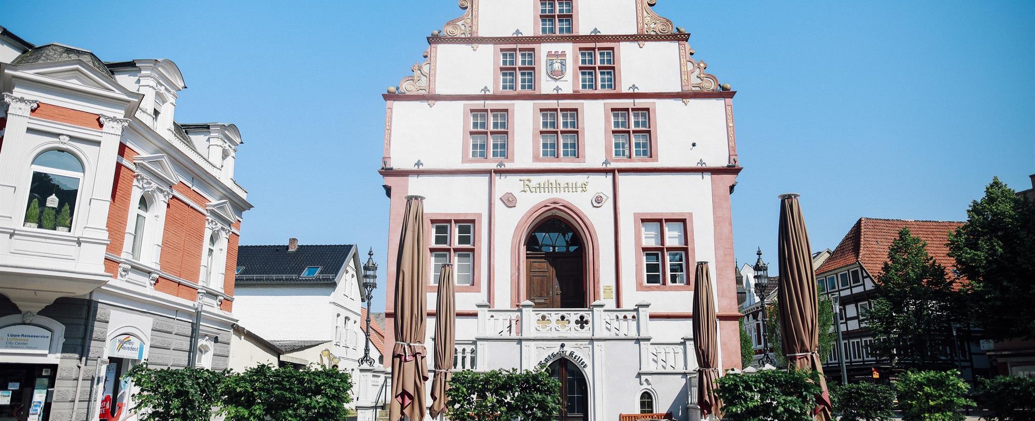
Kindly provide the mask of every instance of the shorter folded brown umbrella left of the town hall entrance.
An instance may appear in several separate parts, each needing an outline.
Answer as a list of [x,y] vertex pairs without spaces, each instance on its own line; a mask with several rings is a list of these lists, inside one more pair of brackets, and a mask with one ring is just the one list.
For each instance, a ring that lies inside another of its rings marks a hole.
[[456,297],[453,268],[442,265],[439,278],[439,300],[435,310],[435,379],[432,380],[432,418],[446,412],[446,390],[452,378],[452,361],[456,344]]

